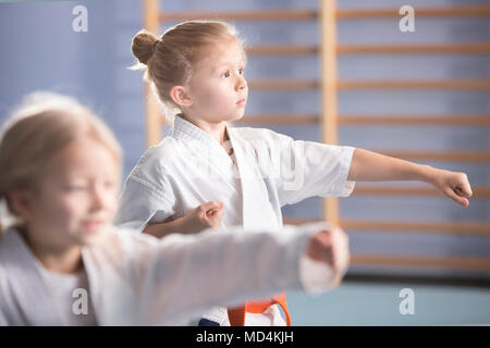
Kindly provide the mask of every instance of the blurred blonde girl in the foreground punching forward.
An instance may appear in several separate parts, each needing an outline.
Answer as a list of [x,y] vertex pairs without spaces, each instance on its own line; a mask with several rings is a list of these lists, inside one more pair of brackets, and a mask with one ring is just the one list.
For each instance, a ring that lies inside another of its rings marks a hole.
[[120,175],[112,133],[71,98],[35,95],[9,121],[0,198],[16,222],[0,237],[0,325],[175,325],[249,296],[327,289],[345,272],[346,237],[324,225],[118,232]]

